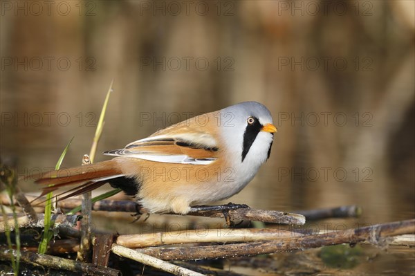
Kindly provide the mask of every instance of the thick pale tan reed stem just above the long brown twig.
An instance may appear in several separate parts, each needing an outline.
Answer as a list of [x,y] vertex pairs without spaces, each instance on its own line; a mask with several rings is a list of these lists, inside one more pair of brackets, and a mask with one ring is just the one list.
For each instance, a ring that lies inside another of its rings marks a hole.
[[278,229],[201,229],[152,234],[125,234],[116,243],[127,248],[164,246],[178,243],[268,241],[287,237],[303,237],[304,234]]

